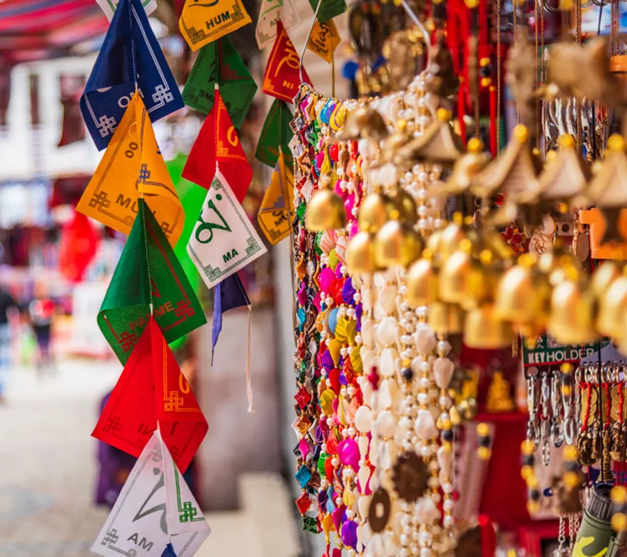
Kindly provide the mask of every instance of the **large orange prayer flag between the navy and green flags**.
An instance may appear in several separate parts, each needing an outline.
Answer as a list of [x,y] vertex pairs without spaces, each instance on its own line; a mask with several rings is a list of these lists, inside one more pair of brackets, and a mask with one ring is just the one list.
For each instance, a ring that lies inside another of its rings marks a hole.
[[170,244],[176,244],[185,213],[161,155],[153,125],[134,95],[76,210],[129,234],[137,200],[144,194]]

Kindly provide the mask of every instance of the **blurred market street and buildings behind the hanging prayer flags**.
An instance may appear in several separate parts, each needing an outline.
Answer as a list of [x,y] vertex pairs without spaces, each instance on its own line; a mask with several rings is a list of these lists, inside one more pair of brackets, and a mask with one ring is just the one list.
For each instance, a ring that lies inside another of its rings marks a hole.
[[[183,0],[159,0],[150,15],[179,84],[194,62],[178,30],[182,5]],[[256,1],[245,5],[255,17]],[[300,6],[308,24],[313,15],[309,3]],[[102,156],[86,134],[79,97],[108,24],[95,0],[0,0],[0,335],[10,331],[10,348],[0,351],[0,359],[10,361],[0,378],[2,557],[91,555],[89,548],[109,512],[96,504],[97,443],[90,434],[121,366],[96,315],[125,237],[74,210]],[[307,24],[292,36],[299,51]],[[269,49],[259,51],[254,29],[253,23],[230,38],[259,84],[262,56]],[[328,66],[317,56],[307,56],[307,70],[315,83],[329,81]],[[320,88],[330,93],[330,82]],[[339,79],[336,93],[349,92],[347,82]],[[269,179],[254,159],[266,103],[258,94],[240,130],[254,164],[245,201],[251,217]],[[203,117],[185,108],[155,124],[182,198],[192,190],[180,172]],[[176,251],[186,258],[185,242]],[[210,316],[212,297],[191,262],[186,263]],[[210,424],[192,464],[192,488],[212,528],[199,555],[310,554],[314,537],[302,536],[293,503],[297,483],[292,476],[296,440],[290,427],[293,335],[287,243],[240,276],[253,305],[256,414],[247,414],[242,336],[247,311],[225,315],[213,366],[210,324],[176,346]],[[3,327],[5,314],[8,327]],[[45,343],[48,330],[49,358],[38,345],[38,338]]]

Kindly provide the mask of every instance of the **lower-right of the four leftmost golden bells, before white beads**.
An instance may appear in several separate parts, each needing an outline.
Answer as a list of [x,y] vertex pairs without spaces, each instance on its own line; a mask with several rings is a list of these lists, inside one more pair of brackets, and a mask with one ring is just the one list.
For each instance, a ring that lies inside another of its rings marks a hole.
[[407,267],[422,253],[422,238],[406,223],[389,221],[375,238],[375,262],[378,267]]

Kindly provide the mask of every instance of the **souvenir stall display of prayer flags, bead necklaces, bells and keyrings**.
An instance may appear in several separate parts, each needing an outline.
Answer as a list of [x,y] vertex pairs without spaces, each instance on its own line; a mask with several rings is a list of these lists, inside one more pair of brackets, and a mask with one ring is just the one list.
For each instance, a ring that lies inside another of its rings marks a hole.
[[[229,38],[245,6],[186,0],[180,32],[199,53],[182,93],[155,3],[102,3],[79,106],[104,155],[77,211],[128,239],[98,312],[124,370],[93,435],[139,460],[93,551],[192,556],[209,535],[183,478],[208,424],[169,347],[206,323],[181,246],[213,290],[215,347],[222,314],[251,309],[238,273],[284,241],[295,504],[325,557],[624,554],[619,2],[598,3],[598,37],[566,1],[310,3],[302,21],[293,1],[261,2],[256,84]],[[343,38],[348,100],[303,64],[323,58],[333,87]],[[255,158],[272,172],[255,226],[238,129],[257,89],[271,98]],[[206,115],[185,191],[153,131],[184,103]]]

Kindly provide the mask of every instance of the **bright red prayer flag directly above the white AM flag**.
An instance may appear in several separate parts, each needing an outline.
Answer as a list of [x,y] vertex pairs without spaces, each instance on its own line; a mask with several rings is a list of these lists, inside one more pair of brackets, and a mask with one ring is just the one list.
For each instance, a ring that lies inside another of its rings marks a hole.
[[185,472],[208,425],[157,322],[150,317],[92,435],[139,457],[157,425],[176,466]]

